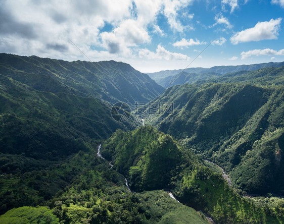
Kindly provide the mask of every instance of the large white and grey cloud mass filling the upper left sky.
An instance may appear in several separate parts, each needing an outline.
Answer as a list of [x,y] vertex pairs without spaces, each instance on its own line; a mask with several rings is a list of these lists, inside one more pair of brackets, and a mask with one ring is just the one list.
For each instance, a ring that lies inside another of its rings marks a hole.
[[[151,42],[149,29],[152,34],[165,35],[157,25],[158,15],[165,16],[173,31],[189,29],[179,21],[178,13],[193,1],[2,1],[0,51],[85,60],[74,43],[92,60],[100,58],[99,54],[104,59],[133,57],[137,48]],[[108,24],[112,30],[105,30]],[[98,47],[103,50],[94,50]]]

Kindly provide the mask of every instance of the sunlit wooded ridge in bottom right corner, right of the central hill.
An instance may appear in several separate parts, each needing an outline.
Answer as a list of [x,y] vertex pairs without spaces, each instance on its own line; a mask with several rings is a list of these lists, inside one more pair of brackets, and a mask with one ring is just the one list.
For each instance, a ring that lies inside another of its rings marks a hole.
[[284,206],[266,207],[241,197],[220,174],[204,166],[185,171],[182,187],[174,191],[180,201],[209,213],[216,223],[282,223]]

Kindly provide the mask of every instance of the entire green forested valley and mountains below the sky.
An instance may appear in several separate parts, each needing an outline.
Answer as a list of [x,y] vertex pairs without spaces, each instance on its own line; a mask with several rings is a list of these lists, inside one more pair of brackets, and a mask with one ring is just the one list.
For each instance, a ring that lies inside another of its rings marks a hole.
[[[0,223],[283,223],[281,66],[196,68],[164,89],[125,63],[1,53]],[[144,107],[144,125],[135,102],[174,108]]]

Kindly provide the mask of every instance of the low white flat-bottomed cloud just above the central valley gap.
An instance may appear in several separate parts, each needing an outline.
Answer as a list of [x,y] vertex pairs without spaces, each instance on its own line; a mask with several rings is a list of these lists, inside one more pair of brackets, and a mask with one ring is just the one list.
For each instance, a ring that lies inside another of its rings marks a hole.
[[189,60],[190,59],[190,57],[188,57],[185,54],[170,52],[161,45],[158,45],[156,52],[153,52],[145,48],[145,49],[140,49],[138,54],[140,58],[146,58],[149,60],[171,61],[171,60]]

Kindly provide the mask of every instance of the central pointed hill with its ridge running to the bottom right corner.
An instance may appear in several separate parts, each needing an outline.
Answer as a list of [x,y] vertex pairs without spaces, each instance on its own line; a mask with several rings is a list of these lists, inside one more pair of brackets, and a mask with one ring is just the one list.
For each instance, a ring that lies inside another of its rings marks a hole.
[[103,144],[102,154],[111,159],[115,170],[128,178],[131,189],[172,190],[179,201],[205,211],[216,223],[281,223],[284,220],[283,208],[265,210],[241,197],[212,165],[153,127],[117,131]]

